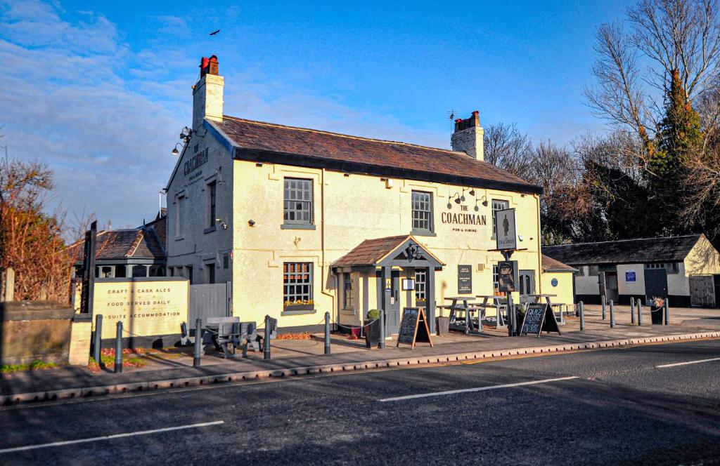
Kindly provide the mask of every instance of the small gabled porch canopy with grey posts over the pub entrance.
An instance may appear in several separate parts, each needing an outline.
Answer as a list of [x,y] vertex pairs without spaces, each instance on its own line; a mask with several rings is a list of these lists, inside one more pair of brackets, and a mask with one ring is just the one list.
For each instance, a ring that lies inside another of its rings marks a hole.
[[[378,278],[382,283],[379,287],[378,305],[388,315],[388,326],[394,330],[400,323],[400,300],[397,296],[399,277],[393,277],[392,269],[402,270],[425,269],[427,270],[426,283],[426,314],[431,326],[435,325],[435,271],[442,270],[444,263],[420,245],[417,239],[411,234],[377,239],[366,239],[353,250],[340,259],[333,262],[332,267],[336,272],[343,271],[378,271]],[[408,291],[409,293],[410,291]],[[396,296],[393,296],[396,293]],[[391,296],[394,299],[391,300]]]

